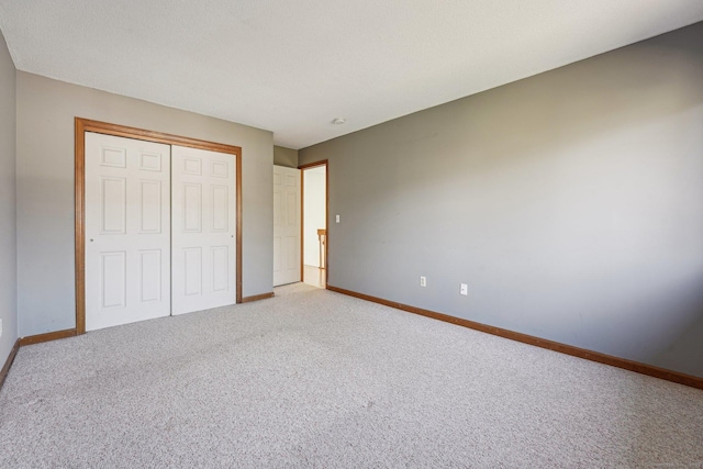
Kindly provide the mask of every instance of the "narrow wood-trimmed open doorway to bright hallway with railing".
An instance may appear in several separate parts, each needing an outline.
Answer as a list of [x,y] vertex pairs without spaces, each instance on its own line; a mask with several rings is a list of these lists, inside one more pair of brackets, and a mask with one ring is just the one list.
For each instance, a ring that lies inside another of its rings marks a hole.
[[327,161],[300,167],[302,179],[301,278],[327,286]]

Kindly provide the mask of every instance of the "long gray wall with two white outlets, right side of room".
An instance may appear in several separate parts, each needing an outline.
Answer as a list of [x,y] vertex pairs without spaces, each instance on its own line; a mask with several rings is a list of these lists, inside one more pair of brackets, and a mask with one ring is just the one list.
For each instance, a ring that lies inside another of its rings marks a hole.
[[299,155],[330,284],[703,377],[703,23]]

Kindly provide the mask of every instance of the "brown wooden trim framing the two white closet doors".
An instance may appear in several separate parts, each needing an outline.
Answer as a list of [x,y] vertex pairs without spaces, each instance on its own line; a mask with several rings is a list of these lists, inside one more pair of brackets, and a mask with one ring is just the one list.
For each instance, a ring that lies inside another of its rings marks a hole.
[[76,333],[86,333],[86,132],[226,153],[235,159],[236,302],[242,302],[242,148],[197,138],[75,119]]

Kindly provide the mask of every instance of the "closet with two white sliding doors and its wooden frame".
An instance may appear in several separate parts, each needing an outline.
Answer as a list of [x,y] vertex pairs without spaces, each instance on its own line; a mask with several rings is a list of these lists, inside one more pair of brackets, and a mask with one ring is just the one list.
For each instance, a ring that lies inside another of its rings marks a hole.
[[76,328],[242,301],[239,147],[76,118]]

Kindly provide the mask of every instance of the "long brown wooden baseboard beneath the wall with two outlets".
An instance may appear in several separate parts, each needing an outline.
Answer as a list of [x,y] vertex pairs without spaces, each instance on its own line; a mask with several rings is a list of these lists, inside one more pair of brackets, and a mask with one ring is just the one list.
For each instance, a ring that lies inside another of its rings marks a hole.
[[409,313],[420,314],[423,316],[432,317],[432,319],[444,321],[447,323],[457,324],[462,327],[468,327],[475,331],[484,332],[487,334],[496,335],[499,337],[510,338],[511,340],[522,342],[523,344],[534,345],[536,347],[547,348],[549,350],[559,351],[566,355],[571,355],[573,357],[583,358],[591,361],[598,361],[599,364],[623,368],[623,369],[635,371],[641,375],[647,375],[647,376],[660,378],[667,381],[677,382],[679,384],[689,386],[691,388],[703,389],[703,378],[694,377],[691,375],[684,375],[679,371],[667,370],[665,368],[655,367],[655,366],[643,364],[639,361],[633,361],[626,358],[620,358],[620,357],[614,357],[612,355],[601,354],[600,351],[588,350],[585,348],[579,348],[572,345],[554,342],[546,338],[535,337],[533,335],[509,331],[501,327],[494,327],[494,326],[477,323],[473,321],[464,320],[460,317],[455,317],[455,316],[450,316],[443,313],[437,313],[429,310],[423,310],[422,308],[410,306],[408,304],[383,300],[382,298],[371,297],[368,294],[345,290],[343,288],[327,286],[327,290],[335,291],[337,293],[346,294],[349,297],[359,298],[361,300],[371,301],[373,303],[383,304],[386,306],[391,306],[397,310],[406,311]]

